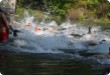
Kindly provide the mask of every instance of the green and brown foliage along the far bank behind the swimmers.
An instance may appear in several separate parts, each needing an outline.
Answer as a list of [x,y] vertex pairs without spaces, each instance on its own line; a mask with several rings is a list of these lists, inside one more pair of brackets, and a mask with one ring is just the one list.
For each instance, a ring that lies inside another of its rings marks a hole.
[[[17,0],[18,8],[46,11],[55,18],[108,22],[110,3],[107,0]],[[20,11],[20,10],[19,10]],[[19,12],[18,11],[18,12]]]

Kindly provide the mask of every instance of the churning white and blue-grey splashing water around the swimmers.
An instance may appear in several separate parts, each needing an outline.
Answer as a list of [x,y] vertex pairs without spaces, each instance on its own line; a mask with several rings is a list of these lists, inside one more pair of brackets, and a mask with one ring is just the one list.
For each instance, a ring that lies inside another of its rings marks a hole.
[[[87,53],[109,53],[110,36],[104,34],[106,32],[101,32],[100,26],[93,27],[92,32],[94,33],[87,34],[87,27],[70,22],[58,26],[55,21],[50,23],[43,21],[43,25],[42,22],[37,24],[33,22],[33,16],[28,16],[28,13],[25,13],[27,14],[26,18],[17,26],[22,33],[18,33],[18,37],[10,35],[7,44],[0,44],[1,50],[70,55],[74,52],[79,55],[84,51]],[[29,23],[31,25],[28,25]],[[96,45],[89,45],[91,42]]]

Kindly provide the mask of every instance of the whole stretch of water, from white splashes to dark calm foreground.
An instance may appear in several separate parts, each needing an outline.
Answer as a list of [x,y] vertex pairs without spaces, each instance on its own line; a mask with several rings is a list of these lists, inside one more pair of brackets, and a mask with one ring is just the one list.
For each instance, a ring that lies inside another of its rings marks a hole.
[[[4,73],[79,75],[83,66],[87,72],[84,75],[100,75],[100,70],[110,66],[109,31],[101,31],[100,26],[94,26],[93,33],[87,34],[88,27],[68,21],[60,26],[55,21],[35,23],[34,17],[25,13],[26,18],[18,25],[12,25],[21,31],[18,37],[10,34],[7,43],[0,43],[0,52],[8,55],[5,61],[1,61],[1,71],[7,69]],[[36,63],[45,65],[38,67]],[[68,64],[71,66],[67,67]]]

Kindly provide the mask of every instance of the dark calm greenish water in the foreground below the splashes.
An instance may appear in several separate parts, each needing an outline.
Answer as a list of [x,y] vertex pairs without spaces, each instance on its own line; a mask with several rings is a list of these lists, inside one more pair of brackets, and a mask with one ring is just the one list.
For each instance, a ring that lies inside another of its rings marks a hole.
[[8,56],[0,60],[3,75],[102,75],[103,69],[73,60],[50,60]]

